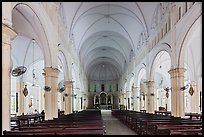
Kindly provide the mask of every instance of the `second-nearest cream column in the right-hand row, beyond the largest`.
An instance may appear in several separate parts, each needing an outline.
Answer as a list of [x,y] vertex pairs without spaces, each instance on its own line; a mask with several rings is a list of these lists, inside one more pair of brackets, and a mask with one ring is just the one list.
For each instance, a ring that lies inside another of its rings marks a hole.
[[147,81],[147,112],[154,113],[155,99],[154,99],[154,81]]

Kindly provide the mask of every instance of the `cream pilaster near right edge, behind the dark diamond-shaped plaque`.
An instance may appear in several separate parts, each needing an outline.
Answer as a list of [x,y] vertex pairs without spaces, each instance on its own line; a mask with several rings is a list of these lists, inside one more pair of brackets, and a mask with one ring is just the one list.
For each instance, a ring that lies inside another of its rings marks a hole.
[[198,84],[197,81],[191,82],[192,88],[194,90],[193,95],[191,96],[191,112],[192,113],[199,113],[199,90],[198,90]]

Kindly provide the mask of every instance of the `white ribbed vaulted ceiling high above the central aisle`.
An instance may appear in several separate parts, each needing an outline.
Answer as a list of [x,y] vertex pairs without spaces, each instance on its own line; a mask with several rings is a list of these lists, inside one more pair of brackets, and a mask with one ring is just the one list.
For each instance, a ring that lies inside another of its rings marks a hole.
[[61,16],[87,78],[115,80],[149,36],[157,2],[62,2]]

